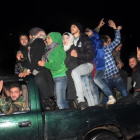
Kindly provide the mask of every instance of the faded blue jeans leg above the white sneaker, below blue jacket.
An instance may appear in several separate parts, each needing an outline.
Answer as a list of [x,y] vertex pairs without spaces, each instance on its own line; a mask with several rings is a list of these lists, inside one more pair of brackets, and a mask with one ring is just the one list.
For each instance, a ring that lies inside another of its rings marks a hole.
[[110,95],[112,95],[112,93],[109,87],[104,82],[103,78],[104,78],[104,70],[95,71],[95,76],[93,78],[95,84],[101,89],[101,91],[107,97],[109,97]]

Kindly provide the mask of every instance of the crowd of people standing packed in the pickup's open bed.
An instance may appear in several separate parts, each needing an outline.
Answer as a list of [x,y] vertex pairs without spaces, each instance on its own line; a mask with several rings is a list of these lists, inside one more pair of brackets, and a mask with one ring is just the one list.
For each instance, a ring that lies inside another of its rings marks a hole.
[[[114,39],[100,35],[100,29],[108,24],[114,30]],[[39,89],[42,107],[58,109],[81,108],[117,102],[116,89],[122,98],[129,98],[127,72],[122,69],[120,58],[122,26],[113,20],[101,19],[94,28],[86,28],[79,22],[70,26],[70,32],[50,32],[34,27],[28,35],[19,36],[20,47],[16,54],[15,74],[32,75]],[[140,50],[129,57],[133,69],[134,95],[140,92]],[[1,84],[2,85],[2,82]],[[102,100],[100,96],[102,95]]]

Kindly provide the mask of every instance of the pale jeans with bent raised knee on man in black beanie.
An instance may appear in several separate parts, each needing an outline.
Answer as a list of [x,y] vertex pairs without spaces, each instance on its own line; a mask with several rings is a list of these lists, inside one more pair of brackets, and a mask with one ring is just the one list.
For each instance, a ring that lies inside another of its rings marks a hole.
[[[74,81],[78,103],[85,102],[82,76],[88,76],[92,71],[93,71],[92,63],[81,64],[72,70],[71,76]],[[89,86],[88,83],[87,86]]]

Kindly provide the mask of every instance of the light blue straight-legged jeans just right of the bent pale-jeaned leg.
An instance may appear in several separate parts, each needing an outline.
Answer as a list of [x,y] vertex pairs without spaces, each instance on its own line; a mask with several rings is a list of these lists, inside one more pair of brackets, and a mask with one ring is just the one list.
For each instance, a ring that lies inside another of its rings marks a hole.
[[88,106],[99,105],[98,87],[94,84],[92,73],[82,76],[84,96],[87,99]]

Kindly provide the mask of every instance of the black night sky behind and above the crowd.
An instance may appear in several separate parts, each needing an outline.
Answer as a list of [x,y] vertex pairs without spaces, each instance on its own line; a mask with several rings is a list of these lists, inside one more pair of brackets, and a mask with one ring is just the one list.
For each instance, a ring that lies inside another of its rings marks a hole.
[[95,28],[104,18],[106,25],[101,28],[100,34],[107,33],[113,39],[114,31],[107,25],[109,19],[123,27],[121,58],[124,69],[130,73],[128,55],[136,53],[140,44],[139,14],[139,4],[134,1],[4,1],[0,5],[0,70],[14,73],[20,33],[28,34],[33,27],[43,28],[46,33],[70,32],[73,22],[80,22],[84,29]]

